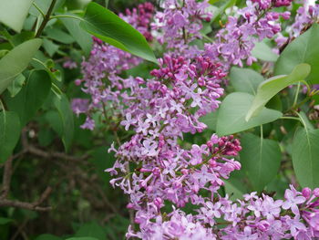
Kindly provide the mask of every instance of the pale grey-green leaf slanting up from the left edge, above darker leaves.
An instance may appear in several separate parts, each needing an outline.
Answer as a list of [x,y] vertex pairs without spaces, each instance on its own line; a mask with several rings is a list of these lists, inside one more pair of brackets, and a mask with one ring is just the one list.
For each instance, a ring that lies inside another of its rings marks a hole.
[[41,39],[32,39],[12,49],[0,60],[0,94],[11,84],[36,55]]

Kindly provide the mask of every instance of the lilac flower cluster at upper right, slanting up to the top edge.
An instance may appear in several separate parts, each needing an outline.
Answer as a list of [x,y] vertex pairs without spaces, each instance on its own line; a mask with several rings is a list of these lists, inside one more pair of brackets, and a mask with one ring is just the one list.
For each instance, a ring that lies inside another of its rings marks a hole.
[[291,1],[253,0],[247,1],[247,6],[239,9],[239,17],[229,16],[224,28],[217,33],[211,44],[205,45],[205,54],[215,61],[222,61],[225,68],[231,65],[242,67],[242,60],[252,65],[256,60],[252,57],[252,48],[256,42],[268,37],[273,38],[281,31],[278,23],[290,17],[290,12],[278,13],[273,7],[289,5]]

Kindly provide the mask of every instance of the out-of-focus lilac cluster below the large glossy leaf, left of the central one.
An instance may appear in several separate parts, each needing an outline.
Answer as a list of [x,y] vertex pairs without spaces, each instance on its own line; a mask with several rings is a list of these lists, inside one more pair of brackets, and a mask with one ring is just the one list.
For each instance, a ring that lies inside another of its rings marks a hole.
[[95,126],[91,115],[105,108],[104,105],[109,101],[112,101],[113,104],[117,103],[118,94],[112,88],[117,85],[118,74],[141,62],[139,57],[133,57],[116,47],[104,44],[97,37],[93,39],[90,57],[87,61],[82,62],[83,78],[76,80],[76,84],[82,85],[82,90],[91,98],[86,112],[87,121],[82,125],[82,128],[90,130]]

